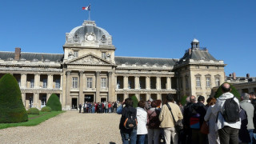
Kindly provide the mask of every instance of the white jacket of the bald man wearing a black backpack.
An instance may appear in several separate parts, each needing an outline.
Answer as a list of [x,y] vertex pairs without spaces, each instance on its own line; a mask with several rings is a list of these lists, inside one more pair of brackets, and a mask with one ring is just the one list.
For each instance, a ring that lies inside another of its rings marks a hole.
[[[240,129],[241,118],[240,118],[240,121],[238,121],[238,122],[229,123],[229,122],[225,122],[224,118],[222,117],[222,114],[218,114],[219,111],[223,110],[223,105],[224,105],[226,99],[233,98],[233,97],[234,97],[234,95],[231,94],[230,92],[228,92],[228,93],[222,94],[219,98],[217,98],[217,102],[216,102],[215,106],[212,108],[212,113],[216,116],[218,115],[217,123],[215,125],[216,131],[222,129],[224,126],[230,126],[235,129]],[[234,101],[237,102],[238,106],[239,106],[238,98],[234,98]]]

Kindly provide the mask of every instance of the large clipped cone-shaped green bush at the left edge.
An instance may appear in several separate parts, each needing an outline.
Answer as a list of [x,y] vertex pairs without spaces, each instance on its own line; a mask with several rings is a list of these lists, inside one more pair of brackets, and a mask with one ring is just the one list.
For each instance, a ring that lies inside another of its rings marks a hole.
[[28,115],[22,103],[18,82],[11,74],[0,79],[0,123],[26,122]]

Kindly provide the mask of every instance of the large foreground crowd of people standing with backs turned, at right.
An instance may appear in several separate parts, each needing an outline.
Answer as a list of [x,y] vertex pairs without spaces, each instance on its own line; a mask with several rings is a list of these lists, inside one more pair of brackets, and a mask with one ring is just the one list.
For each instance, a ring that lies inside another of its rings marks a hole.
[[191,95],[185,106],[174,102],[173,94],[167,94],[163,105],[161,100],[150,99],[139,101],[137,108],[126,98],[119,123],[122,143],[158,144],[161,138],[168,144],[256,143],[255,94],[242,94],[239,102],[230,84],[221,88],[219,98],[205,102],[203,96]]

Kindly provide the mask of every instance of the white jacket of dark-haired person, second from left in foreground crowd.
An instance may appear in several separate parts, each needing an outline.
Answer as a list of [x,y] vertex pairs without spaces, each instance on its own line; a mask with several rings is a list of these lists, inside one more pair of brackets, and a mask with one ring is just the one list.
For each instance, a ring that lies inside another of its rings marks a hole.
[[137,134],[147,134],[146,119],[147,119],[146,111],[141,107],[137,107],[137,121],[138,121]]

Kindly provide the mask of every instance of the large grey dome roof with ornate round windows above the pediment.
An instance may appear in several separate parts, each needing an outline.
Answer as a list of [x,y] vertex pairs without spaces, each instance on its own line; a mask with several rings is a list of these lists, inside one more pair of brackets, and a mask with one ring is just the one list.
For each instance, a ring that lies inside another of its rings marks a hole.
[[65,45],[78,46],[110,46],[112,36],[94,21],[84,21],[82,26],[77,26],[70,33],[66,33]]

